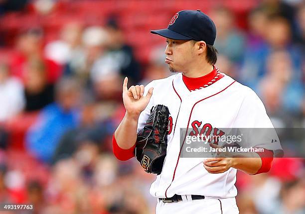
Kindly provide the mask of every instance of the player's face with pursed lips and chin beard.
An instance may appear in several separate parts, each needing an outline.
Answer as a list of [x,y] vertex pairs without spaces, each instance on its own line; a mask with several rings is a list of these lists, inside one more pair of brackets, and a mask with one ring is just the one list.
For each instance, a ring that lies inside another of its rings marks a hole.
[[193,48],[191,40],[166,39],[165,63],[171,72],[186,72],[193,63]]

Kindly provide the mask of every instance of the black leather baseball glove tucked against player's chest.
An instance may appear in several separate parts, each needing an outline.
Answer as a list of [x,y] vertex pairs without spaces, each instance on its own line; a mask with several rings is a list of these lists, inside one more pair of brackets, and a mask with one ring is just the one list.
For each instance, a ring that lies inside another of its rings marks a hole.
[[148,173],[162,171],[167,147],[169,111],[166,106],[152,107],[151,115],[137,135],[136,157]]

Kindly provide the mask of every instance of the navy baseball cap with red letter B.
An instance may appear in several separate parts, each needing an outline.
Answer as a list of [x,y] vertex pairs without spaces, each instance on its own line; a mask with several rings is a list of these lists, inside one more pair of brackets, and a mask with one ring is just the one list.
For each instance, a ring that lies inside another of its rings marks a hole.
[[209,16],[197,10],[181,10],[174,14],[166,29],[151,30],[169,39],[205,41],[214,45],[216,27]]

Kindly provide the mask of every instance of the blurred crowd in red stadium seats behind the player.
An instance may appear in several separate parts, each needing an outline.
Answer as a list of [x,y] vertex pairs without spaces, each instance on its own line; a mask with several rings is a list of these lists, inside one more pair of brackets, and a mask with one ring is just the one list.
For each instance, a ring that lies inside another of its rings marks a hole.
[[[171,75],[165,42],[149,30],[181,9],[214,20],[216,66],[259,95],[275,127],[305,127],[302,0],[143,2],[139,15],[138,0],[0,0],[0,203],[33,204],[35,214],[154,213],[155,176],[118,161],[111,139],[125,114],[123,78]],[[238,172],[240,213],[305,214],[304,164],[277,158],[267,174]]]

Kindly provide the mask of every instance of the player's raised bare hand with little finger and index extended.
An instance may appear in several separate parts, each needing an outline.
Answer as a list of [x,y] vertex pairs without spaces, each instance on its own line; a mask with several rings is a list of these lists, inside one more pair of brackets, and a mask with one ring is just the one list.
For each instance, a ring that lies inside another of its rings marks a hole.
[[139,115],[148,105],[152,97],[150,88],[147,96],[144,97],[144,85],[131,86],[127,88],[128,78],[125,77],[123,83],[123,103],[126,111],[130,114]]

